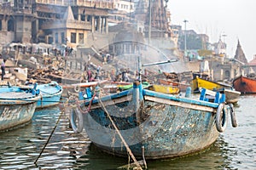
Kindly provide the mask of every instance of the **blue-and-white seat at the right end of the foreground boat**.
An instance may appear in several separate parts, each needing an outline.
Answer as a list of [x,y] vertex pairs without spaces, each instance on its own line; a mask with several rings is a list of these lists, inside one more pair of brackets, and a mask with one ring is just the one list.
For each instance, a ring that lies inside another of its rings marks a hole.
[[224,103],[225,94],[220,94],[219,92],[213,92],[212,90],[208,90],[206,88],[201,88],[200,100],[209,101],[213,103]]

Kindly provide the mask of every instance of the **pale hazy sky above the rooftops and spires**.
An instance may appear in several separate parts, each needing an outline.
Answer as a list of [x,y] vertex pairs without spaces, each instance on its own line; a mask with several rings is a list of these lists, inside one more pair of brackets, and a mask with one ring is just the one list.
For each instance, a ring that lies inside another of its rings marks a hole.
[[[207,34],[210,42],[227,44],[233,58],[238,40],[248,61],[256,54],[256,0],[169,0],[172,25]],[[225,36],[223,36],[225,35]]]

